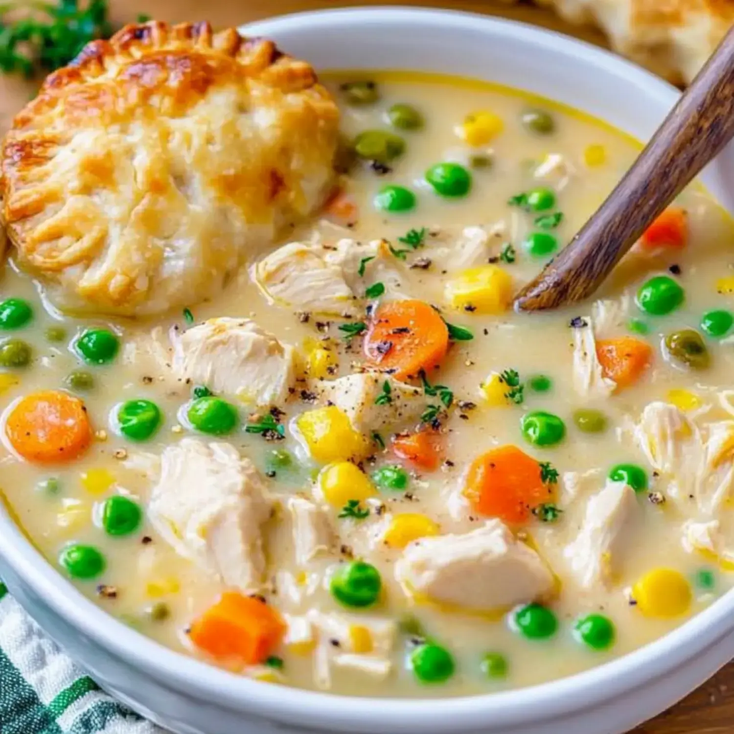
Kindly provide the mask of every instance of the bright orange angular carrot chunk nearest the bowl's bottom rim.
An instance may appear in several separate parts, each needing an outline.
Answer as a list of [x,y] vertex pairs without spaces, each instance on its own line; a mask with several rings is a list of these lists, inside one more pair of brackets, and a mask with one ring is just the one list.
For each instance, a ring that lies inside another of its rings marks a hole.
[[280,614],[257,597],[225,592],[191,625],[191,641],[214,658],[262,663],[283,641]]

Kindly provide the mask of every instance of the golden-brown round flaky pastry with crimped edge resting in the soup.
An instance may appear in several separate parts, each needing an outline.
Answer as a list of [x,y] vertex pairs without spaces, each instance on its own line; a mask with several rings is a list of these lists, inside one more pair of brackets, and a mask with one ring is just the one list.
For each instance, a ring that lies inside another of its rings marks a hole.
[[62,310],[210,297],[321,203],[339,113],[313,68],[208,23],[127,26],[46,79],[2,147],[18,261]]

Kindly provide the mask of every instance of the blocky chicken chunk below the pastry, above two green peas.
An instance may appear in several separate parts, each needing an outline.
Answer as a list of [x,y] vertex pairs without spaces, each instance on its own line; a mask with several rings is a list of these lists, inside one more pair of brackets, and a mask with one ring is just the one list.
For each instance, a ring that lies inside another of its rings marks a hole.
[[294,349],[250,319],[209,319],[176,341],[181,379],[256,406],[283,404],[295,381]]

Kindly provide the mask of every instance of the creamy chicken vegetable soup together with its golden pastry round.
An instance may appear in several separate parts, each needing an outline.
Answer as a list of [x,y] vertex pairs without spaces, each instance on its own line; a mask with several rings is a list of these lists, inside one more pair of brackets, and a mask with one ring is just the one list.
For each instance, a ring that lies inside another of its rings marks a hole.
[[[594,300],[517,314],[512,294],[603,200],[635,142],[457,79],[335,73],[302,87],[301,62],[271,49],[264,63],[287,68],[258,66],[266,42],[187,27],[128,31],[115,57],[84,52],[5,144],[2,487],[49,562],[175,650],[259,680],[384,696],[570,675],[727,592],[734,228],[716,203],[688,189]],[[235,81],[203,92],[192,81],[203,98],[181,101],[176,70],[190,54]],[[132,108],[92,130],[88,112],[59,101],[114,95],[132,68],[139,84],[167,70],[179,117]],[[280,140],[282,107],[237,100],[239,84],[265,84],[254,99],[275,85],[286,103],[283,83],[297,87],[285,94],[296,114],[313,104],[320,121]],[[337,109],[349,154],[326,196]],[[209,123],[231,137],[199,159]],[[250,137],[256,123],[264,137]],[[54,124],[66,148],[48,159],[37,137]],[[313,156],[313,178],[299,178],[307,197],[257,209],[285,219],[255,247],[249,215],[233,212],[267,182],[245,183],[238,146],[247,138],[265,160],[268,134],[292,167]],[[18,159],[23,139],[37,159]],[[110,167],[72,193],[92,139]],[[180,148],[154,164],[153,139]],[[126,189],[135,161],[163,189]],[[18,218],[23,175],[55,198]],[[244,189],[219,200],[209,176]],[[75,197],[105,234],[67,265],[98,226],[65,214],[54,229]],[[126,233],[145,200],[160,217]],[[188,228],[193,217],[203,229]],[[203,274],[209,236],[233,248],[231,267]],[[128,245],[150,255],[148,280],[115,301]],[[82,303],[88,315],[54,308]]]

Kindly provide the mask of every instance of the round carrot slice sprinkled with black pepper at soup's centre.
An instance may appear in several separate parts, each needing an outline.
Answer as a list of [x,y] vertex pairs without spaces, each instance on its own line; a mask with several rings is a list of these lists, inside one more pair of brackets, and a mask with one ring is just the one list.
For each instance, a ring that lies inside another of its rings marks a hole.
[[390,301],[372,316],[364,350],[370,366],[413,379],[446,357],[448,328],[424,301]]

